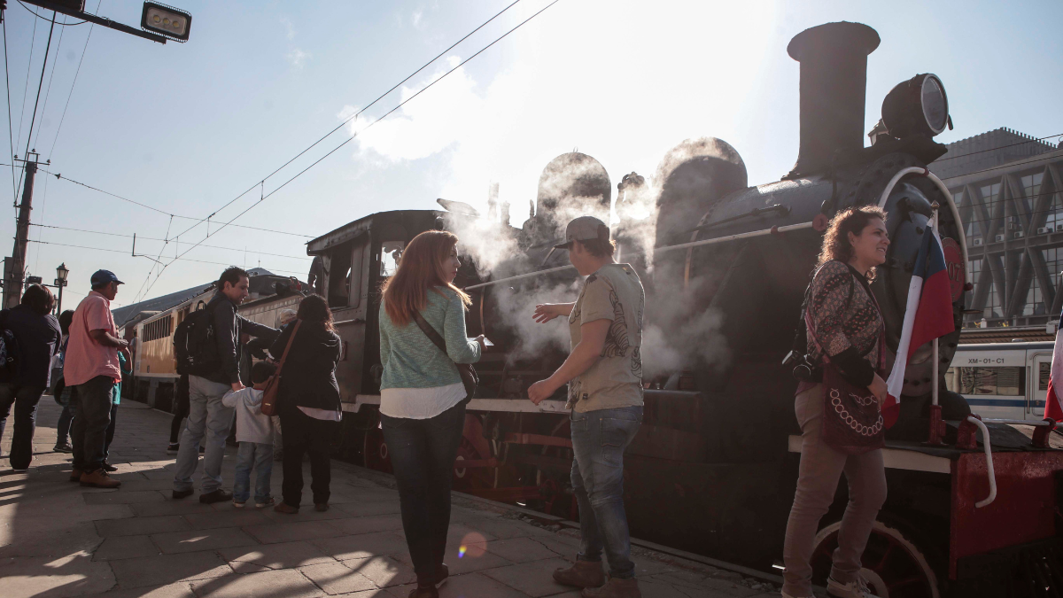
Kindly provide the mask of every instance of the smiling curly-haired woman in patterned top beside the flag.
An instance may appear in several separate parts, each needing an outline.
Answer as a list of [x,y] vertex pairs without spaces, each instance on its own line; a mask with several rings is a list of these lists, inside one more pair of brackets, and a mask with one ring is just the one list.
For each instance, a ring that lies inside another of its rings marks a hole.
[[810,598],[820,519],[845,472],[849,503],[838,534],[827,595],[873,598],[860,578],[860,558],[885,502],[882,417],[885,400],[883,323],[871,292],[875,267],[890,246],[885,213],[874,205],[838,213],[827,227],[809,286],[805,321],[812,380],[797,386],[800,469],[782,557],[782,596]]

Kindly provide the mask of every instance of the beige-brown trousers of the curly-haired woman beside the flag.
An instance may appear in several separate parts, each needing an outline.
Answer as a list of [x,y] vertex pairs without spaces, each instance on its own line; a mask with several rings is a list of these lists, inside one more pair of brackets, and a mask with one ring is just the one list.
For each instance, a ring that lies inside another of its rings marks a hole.
[[885,467],[882,451],[845,454],[823,442],[823,384],[797,395],[794,411],[802,429],[800,470],[797,492],[787,522],[782,548],[786,565],[782,589],[795,598],[812,596],[812,550],[820,519],[834,501],[838,480],[845,472],[849,503],[838,533],[830,577],[841,583],[856,579],[860,557],[879,509],[885,502]]

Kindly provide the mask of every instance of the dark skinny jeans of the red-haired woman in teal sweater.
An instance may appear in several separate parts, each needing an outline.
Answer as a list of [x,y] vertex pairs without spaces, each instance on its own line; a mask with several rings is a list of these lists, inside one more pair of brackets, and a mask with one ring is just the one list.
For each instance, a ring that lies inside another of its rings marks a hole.
[[[381,414],[399,486],[406,546],[422,585],[433,583],[446,553],[451,482],[465,419],[465,405],[460,403],[428,419]],[[284,433],[288,433],[287,428]]]

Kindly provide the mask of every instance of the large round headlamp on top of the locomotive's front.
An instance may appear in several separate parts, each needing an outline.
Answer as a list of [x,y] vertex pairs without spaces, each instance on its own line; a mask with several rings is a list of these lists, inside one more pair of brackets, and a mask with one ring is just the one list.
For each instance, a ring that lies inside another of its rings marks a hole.
[[952,128],[948,96],[937,74],[916,74],[898,84],[882,100],[882,122],[890,135],[933,137]]

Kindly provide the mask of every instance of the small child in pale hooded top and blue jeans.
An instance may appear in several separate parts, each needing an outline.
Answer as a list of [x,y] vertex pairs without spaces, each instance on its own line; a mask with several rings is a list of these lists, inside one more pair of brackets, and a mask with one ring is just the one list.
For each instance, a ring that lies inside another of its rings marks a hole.
[[230,391],[222,397],[225,406],[236,408],[236,442],[240,449],[236,454],[236,475],[233,482],[233,506],[242,508],[251,494],[251,468],[255,477],[255,506],[261,509],[273,504],[270,496],[269,477],[273,470],[273,421],[263,415],[260,405],[266,382],[276,371],[276,366],[258,362],[251,367],[254,386],[242,391]]

